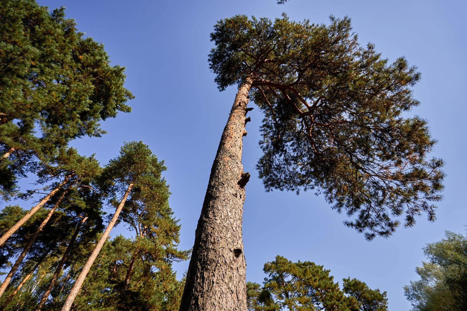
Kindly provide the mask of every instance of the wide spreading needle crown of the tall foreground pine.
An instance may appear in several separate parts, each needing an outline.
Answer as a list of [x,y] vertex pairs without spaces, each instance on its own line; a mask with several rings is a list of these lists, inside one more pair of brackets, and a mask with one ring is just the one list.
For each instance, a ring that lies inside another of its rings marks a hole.
[[401,217],[409,227],[424,212],[435,219],[443,161],[427,159],[436,141],[426,120],[405,117],[420,79],[405,58],[361,46],[348,17],[326,26],[236,15],[211,40],[219,90],[252,81],[266,190],[317,189],[368,240],[391,235]]

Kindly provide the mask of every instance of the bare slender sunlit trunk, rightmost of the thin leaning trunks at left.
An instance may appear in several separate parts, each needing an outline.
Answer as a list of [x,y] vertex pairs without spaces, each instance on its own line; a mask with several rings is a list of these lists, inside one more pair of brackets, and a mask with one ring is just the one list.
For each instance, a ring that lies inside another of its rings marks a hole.
[[76,295],[78,295],[78,292],[81,289],[81,286],[83,286],[83,282],[85,281],[85,278],[89,270],[91,269],[92,263],[94,263],[94,260],[96,260],[97,256],[99,255],[100,249],[102,249],[102,246],[104,246],[104,243],[106,242],[107,237],[110,234],[110,231],[115,225],[115,222],[117,222],[118,216],[121,212],[121,209],[123,208],[123,205],[125,204],[125,201],[127,200],[128,194],[130,194],[132,187],[133,187],[133,183],[130,183],[128,185],[127,191],[125,191],[125,194],[123,195],[123,198],[120,201],[119,206],[117,207],[117,210],[115,211],[115,214],[113,214],[112,220],[107,225],[107,228],[104,231],[104,234],[100,237],[99,242],[96,245],[96,248],[92,251],[91,256],[89,256],[88,260],[86,261],[83,267],[83,270],[81,270],[81,273],[76,279],[76,282],[73,284],[73,287],[71,288],[70,293],[68,293],[68,297],[66,297],[65,303],[62,307],[62,311],[70,310],[71,305],[73,304],[73,301],[76,298]]

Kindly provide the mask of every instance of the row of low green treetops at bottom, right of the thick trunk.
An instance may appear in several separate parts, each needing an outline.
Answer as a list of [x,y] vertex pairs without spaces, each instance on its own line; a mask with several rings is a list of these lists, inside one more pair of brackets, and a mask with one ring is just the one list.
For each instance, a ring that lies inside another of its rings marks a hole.
[[[330,270],[312,262],[292,263],[282,256],[264,264],[263,286],[247,283],[248,311],[387,311],[386,292],[357,279],[344,279],[344,290]],[[345,295],[347,294],[347,295]]]

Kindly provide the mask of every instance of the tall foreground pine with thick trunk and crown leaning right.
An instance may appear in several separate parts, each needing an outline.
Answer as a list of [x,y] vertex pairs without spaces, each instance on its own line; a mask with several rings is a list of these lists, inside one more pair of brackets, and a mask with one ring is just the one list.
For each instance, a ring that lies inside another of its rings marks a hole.
[[[241,232],[245,185],[242,137],[251,97],[264,115],[257,169],[266,190],[313,189],[349,227],[387,237],[416,216],[435,219],[441,159],[411,87],[420,79],[405,58],[389,63],[363,47],[350,19],[326,25],[245,15],[219,21],[209,55],[219,90],[238,85],[220,138],[198,221],[181,311],[246,310]],[[402,218],[402,220],[401,220]]]

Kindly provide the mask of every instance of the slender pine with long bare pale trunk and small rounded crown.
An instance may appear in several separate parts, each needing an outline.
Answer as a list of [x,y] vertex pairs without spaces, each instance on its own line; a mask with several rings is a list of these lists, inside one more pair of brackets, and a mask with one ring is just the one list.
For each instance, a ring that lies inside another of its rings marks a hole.
[[120,156],[110,160],[106,165],[101,175],[103,191],[115,196],[122,195],[122,193],[123,195],[120,200],[117,200],[116,197],[111,200],[113,206],[116,207],[115,213],[71,288],[62,311],[70,310],[86,275],[91,269],[92,263],[94,263],[104,246],[127,199],[132,200],[133,193],[136,193],[137,198],[149,196],[155,199],[167,200],[167,190],[161,191],[161,189],[167,188],[165,180],[161,177],[161,173],[165,169],[163,161],[159,161],[147,145],[135,141],[123,145],[120,149]]

